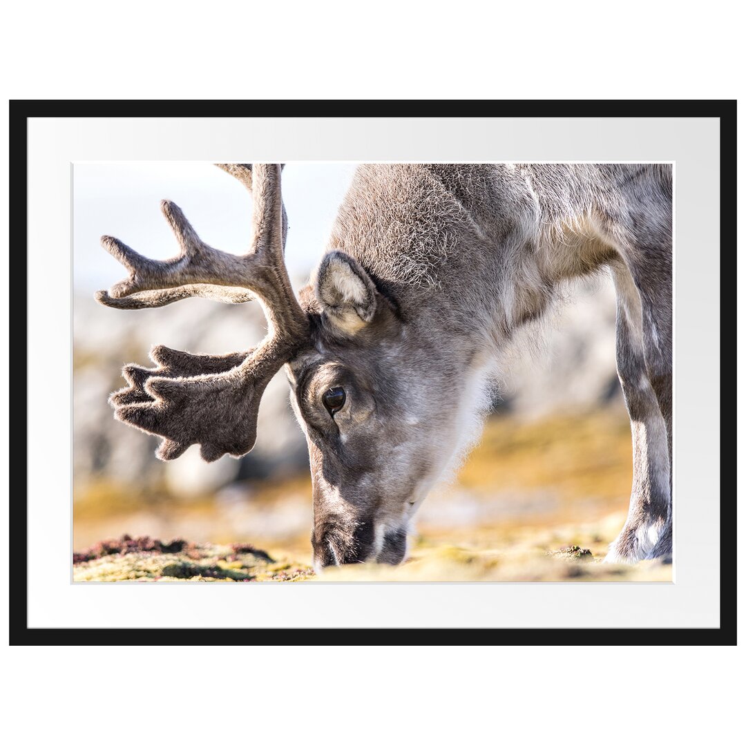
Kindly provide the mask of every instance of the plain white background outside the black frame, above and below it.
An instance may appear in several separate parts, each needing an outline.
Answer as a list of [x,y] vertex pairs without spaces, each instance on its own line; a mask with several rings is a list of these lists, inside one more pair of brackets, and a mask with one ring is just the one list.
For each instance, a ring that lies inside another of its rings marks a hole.
[[[126,12],[43,5],[16,4],[6,14],[10,98],[734,98],[742,84],[740,27],[732,4],[718,1],[692,10],[651,1],[495,5],[493,16],[470,2],[428,6],[424,16],[419,4],[401,2],[327,4],[323,12],[316,4],[225,3],[210,19],[188,2],[148,3],[146,13],[141,2]],[[236,25],[242,33],[232,43]],[[234,637],[251,642],[251,633]],[[10,653],[5,723],[16,742],[67,734],[112,744],[142,733],[272,743],[720,742],[740,720],[742,659],[727,649]],[[151,672],[165,672],[168,683]],[[256,684],[244,709],[247,676]],[[218,686],[235,706],[182,704],[169,695],[184,679]]]

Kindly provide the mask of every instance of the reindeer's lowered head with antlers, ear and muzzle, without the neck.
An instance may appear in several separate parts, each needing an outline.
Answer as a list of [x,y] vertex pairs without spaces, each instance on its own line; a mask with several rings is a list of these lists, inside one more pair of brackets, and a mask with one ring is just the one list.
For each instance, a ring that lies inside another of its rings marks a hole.
[[104,248],[130,275],[96,298],[124,309],[190,296],[258,298],[269,335],[251,351],[223,356],[155,347],[154,369],[123,369],[129,385],[110,398],[115,417],[161,436],[156,455],[163,460],[195,443],[207,461],[239,457],[254,445],[260,397],[284,364],[310,454],[316,566],[401,562],[410,518],[457,448],[460,395],[444,392],[461,392],[459,372],[424,348],[437,343],[424,342],[350,254],[325,254],[298,302],[283,259],[280,166],[218,165],[252,192],[248,253],[206,245],[181,210],[164,202],[181,252],[157,262],[104,236]]

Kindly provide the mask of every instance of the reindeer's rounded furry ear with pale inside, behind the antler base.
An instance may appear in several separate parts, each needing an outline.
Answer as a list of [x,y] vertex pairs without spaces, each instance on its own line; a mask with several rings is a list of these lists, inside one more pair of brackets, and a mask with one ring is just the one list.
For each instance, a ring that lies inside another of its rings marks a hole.
[[365,269],[349,254],[325,254],[313,287],[326,319],[339,330],[354,334],[372,321],[377,291]]

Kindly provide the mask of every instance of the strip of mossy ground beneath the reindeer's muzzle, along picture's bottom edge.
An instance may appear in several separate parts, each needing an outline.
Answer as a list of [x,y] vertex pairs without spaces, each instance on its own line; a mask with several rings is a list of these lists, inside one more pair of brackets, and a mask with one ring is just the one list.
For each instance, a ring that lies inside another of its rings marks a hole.
[[[419,536],[413,540],[410,557],[403,565],[345,565],[327,568],[316,575],[307,561],[295,557],[271,556],[248,545],[191,544],[176,539],[166,551],[154,546],[149,550],[137,544],[160,545],[149,539],[131,540],[136,546],[113,554],[96,556],[78,553],[73,565],[75,582],[249,582],[303,581],[323,582],[560,582],[560,581],[630,581],[666,582],[672,579],[672,568],[662,562],[639,562],[630,565],[608,565],[595,557],[587,546],[557,546],[563,536],[582,536],[594,547],[604,548],[606,525],[594,524],[580,532],[565,528],[539,533],[512,533],[501,545],[485,545],[479,540],[463,544]],[[125,537],[129,539],[129,537]],[[553,544],[554,542],[554,544]],[[117,543],[104,542],[114,546]],[[169,548],[174,551],[168,551]],[[87,559],[87,557],[91,557]]]

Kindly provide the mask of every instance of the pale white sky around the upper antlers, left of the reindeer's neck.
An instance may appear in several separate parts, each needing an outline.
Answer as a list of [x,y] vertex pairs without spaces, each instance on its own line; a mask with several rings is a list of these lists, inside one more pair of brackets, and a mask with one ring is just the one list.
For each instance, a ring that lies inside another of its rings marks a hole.
[[[283,198],[288,214],[286,263],[298,284],[325,248],[354,163],[288,163]],[[251,231],[251,197],[211,163],[78,163],[73,167],[73,276],[76,292],[106,289],[125,270],[99,243],[116,236],[140,254],[166,259],[178,244],[160,200],[178,204],[205,242],[242,254]]]

